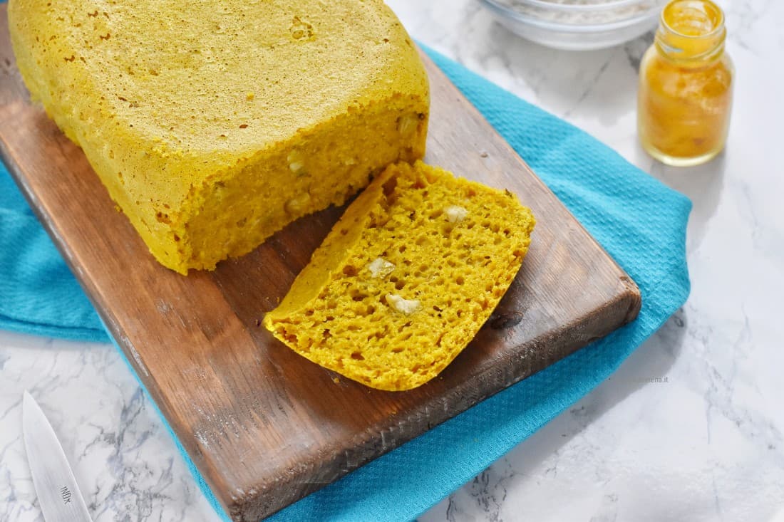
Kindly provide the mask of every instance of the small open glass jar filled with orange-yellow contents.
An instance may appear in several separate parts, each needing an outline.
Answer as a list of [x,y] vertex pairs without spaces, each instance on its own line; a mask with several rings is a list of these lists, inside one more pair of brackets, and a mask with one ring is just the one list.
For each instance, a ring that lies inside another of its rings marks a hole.
[[724,149],[734,69],[724,13],[710,0],[673,0],[640,63],[637,132],[667,165],[699,165]]

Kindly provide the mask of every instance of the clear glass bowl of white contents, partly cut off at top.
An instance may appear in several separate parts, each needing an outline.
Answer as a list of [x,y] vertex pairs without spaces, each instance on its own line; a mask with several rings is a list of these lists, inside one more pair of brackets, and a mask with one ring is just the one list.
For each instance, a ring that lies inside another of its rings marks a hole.
[[604,49],[652,30],[666,0],[479,0],[504,27],[554,49]]

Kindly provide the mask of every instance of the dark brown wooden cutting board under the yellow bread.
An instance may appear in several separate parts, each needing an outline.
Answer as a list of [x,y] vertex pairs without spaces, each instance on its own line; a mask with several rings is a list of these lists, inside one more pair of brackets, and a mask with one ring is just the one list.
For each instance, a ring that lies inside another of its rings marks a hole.
[[234,520],[274,513],[632,321],[637,286],[426,57],[426,161],[513,190],[538,223],[476,339],[416,390],[371,390],[260,327],[340,215],[319,212],[212,273],[158,265],[82,151],[31,105],[0,6],[0,152],[137,375]]

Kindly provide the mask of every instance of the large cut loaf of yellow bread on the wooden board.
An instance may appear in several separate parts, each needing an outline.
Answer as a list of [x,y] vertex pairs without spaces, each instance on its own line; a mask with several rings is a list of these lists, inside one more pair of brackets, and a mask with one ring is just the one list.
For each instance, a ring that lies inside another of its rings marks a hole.
[[32,98],[182,274],[424,154],[426,73],[381,0],[11,0],[9,28]]

